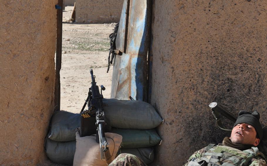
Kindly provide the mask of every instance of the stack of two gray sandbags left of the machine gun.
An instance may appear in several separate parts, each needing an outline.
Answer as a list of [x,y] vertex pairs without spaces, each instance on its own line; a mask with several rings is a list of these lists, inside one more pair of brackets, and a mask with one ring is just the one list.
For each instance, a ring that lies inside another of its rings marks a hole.
[[67,111],[54,112],[45,141],[45,152],[51,161],[72,165],[77,127],[80,127],[80,114]]

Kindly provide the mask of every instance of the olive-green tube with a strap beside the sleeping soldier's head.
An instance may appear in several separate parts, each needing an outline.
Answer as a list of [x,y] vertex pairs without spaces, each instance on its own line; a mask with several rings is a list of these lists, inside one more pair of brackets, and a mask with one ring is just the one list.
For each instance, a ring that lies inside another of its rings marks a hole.
[[210,103],[209,107],[212,110],[212,114],[214,115],[219,128],[223,130],[231,131],[232,129],[225,129],[224,125],[222,124],[222,116],[226,117],[232,122],[236,122],[236,116],[231,114],[229,111],[227,111],[225,108],[223,108],[221,105],[219,105],[216,102]]

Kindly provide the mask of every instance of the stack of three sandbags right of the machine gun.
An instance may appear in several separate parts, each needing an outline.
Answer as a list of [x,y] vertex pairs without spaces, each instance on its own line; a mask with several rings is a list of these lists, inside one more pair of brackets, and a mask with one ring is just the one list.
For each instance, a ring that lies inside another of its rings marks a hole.
[[146,164],[154,160],[153,146],[160,143],[155,128],[163,122],[156,110],[143,101],[103,99],[112,133],[122,136],[119,153],[131,153]]

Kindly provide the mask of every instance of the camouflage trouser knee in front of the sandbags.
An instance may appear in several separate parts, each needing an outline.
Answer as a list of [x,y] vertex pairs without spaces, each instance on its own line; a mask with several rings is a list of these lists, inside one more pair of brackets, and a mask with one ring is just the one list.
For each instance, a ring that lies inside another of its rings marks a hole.
[[147,166],[140,158],[129,153],[121,153],[108,166]]

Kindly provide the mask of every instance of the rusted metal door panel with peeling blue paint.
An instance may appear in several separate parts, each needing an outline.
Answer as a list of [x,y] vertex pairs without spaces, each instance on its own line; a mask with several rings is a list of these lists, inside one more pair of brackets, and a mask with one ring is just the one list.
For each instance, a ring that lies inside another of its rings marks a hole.
[[131,96],[135,100],[147,101],[151,0],[125,0],[123,11],[126,12],[121,13],[118,46],[116,42],[122,55],[117,55],[115,59],[111,97],[127,100]]

